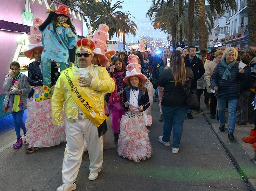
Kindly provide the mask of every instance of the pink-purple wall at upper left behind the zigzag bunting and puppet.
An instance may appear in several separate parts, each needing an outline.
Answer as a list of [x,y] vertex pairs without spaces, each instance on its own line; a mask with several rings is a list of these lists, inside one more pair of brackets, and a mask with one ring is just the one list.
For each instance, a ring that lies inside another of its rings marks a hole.
[[[50,3],[50,0],[47,1]],[[25,10],[25,0],[0,0],[0,4],[2,5],[0,20],[22,24],[21,12]],[[56,5],[58,6],[59,4],[56,3]],[[30,7],[34,17],[41,17],[43,20],[47,18],[48,14],[45,14],[47,9],[44,2],[40,6],[37,0],[35,0],[34,3],[30,0]],[[73,16],[71,15],[71,17]],[[72,23],[76,28],[77,34],[83,36],[83,21],[77,18],[73,19]],[[21,34],[22,33],[0,30],[0,94],[5,93],[1,87],[17,49],[16,38]]]

